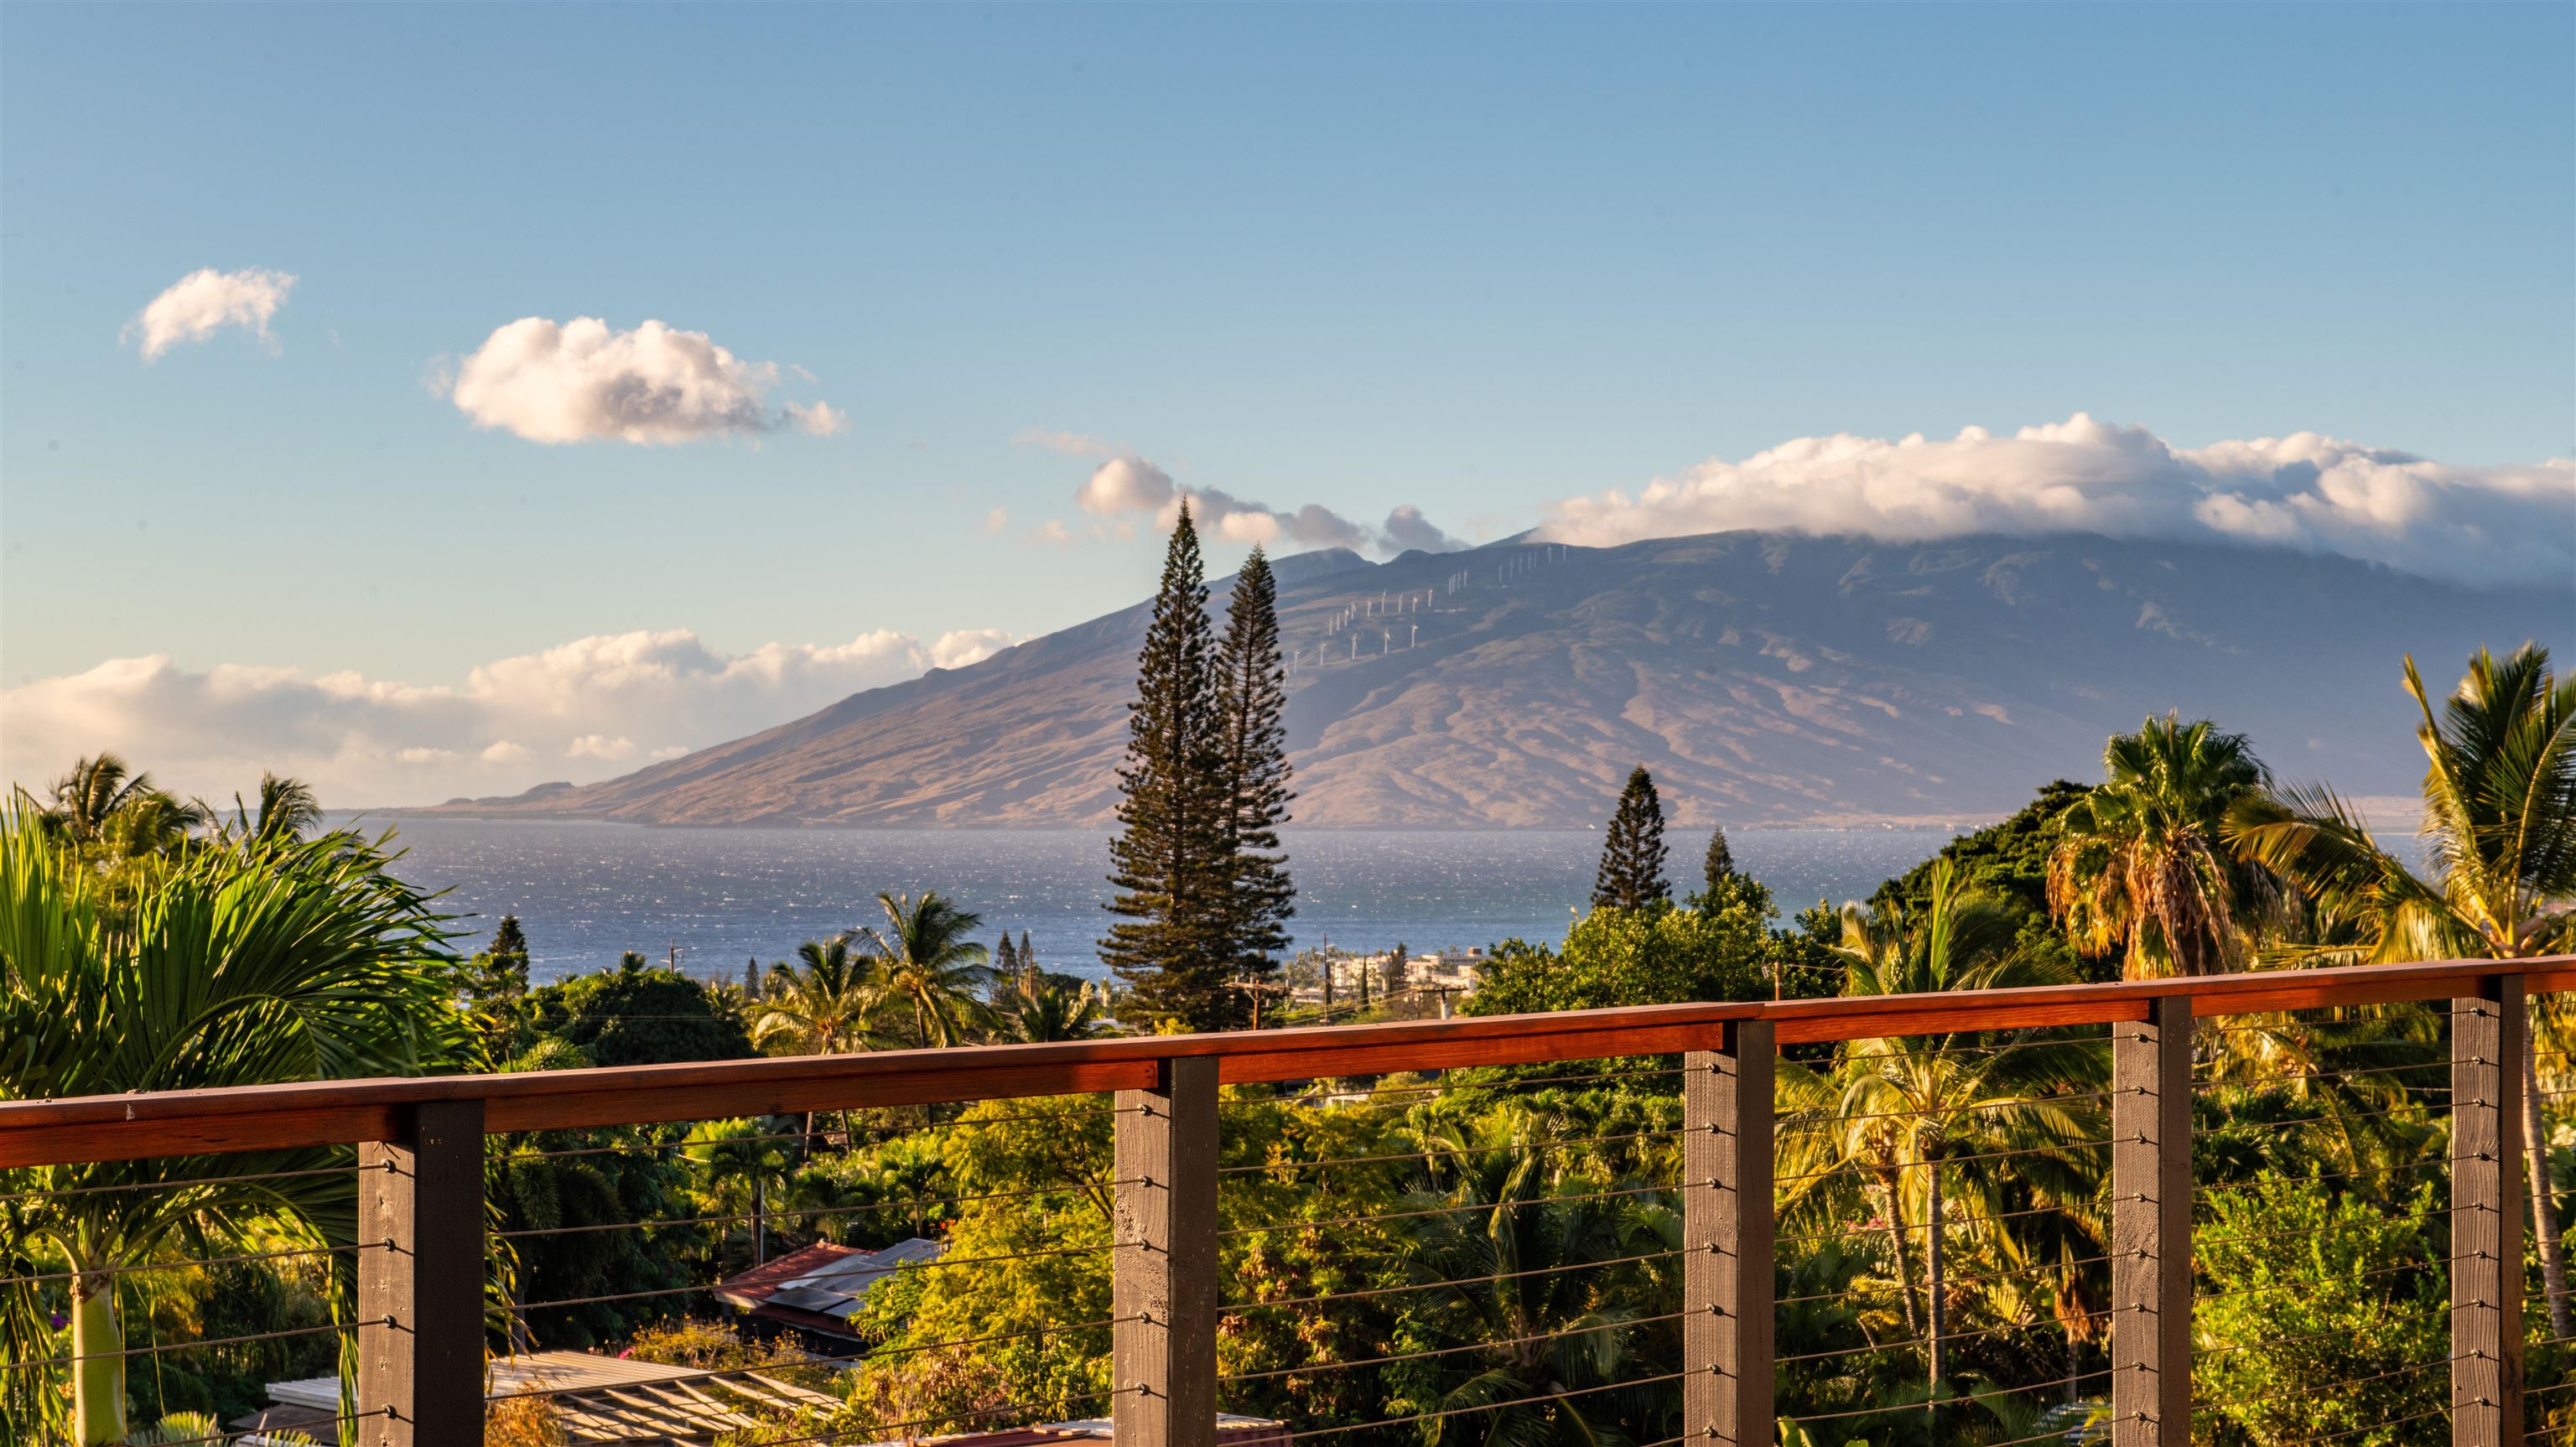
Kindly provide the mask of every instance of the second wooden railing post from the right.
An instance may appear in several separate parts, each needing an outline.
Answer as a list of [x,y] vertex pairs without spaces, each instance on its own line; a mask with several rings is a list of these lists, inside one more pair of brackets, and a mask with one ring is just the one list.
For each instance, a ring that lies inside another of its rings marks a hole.
[[2192,999],[2110,1045],[2112,1447],[2192,1442]]

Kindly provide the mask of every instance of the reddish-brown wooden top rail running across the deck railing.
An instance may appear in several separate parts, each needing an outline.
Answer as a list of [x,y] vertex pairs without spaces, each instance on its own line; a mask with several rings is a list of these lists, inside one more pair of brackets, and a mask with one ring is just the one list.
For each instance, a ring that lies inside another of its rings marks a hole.
[[1770,1020],[1783,1045],[1798,1045],[1955,1030],[2112,1025],[2146,1020],[2151,1002],[2177,994],[2190,996],[2195,1017],[2450,999],[2470,994],[2476,981],[2491,976],[2522,976],[2532,994],[2576,989],[2576,955],[23,1099],[0,1102],[0,1166],[392,1141],[402,1107],[438,1099],[482,1099],[484,1128],[495,1133],[569,1130],[1146,1089],[1157,1084],[1162,1061],[1185,1056],[1216,1056],[1218,1079],[1226,1084],[1303,1081],[1705,1050],[1721,1043],[1731,1020]]

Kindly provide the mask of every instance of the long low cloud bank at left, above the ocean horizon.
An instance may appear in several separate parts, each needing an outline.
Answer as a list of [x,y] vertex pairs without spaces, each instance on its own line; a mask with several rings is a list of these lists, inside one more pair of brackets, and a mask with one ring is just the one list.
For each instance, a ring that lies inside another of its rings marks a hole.
[[935,641],[873,631],[726,654],[688,631],[611,633],[487,662],[459,685],[111,659],[0,693],[0,778],[41,788],[75,757],[116,749],[206,798],[229,798],[263,767],[309,780],[332,806],[518,793],[757,734],[1010,644],[997,628]]

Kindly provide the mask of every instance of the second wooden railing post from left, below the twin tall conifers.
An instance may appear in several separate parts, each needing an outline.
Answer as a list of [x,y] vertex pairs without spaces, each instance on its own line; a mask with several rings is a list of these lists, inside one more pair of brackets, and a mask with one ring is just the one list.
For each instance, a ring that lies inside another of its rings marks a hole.
[[1216,1447],[1216,1056],[1118,1092],[1113,1447]]

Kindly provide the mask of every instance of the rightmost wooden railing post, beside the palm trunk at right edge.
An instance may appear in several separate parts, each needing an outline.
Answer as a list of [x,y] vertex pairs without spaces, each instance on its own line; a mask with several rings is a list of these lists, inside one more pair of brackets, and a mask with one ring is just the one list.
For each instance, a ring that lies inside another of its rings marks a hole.
[[2450,1014],[2450,1439],[2522,1442],[2522,976]]

